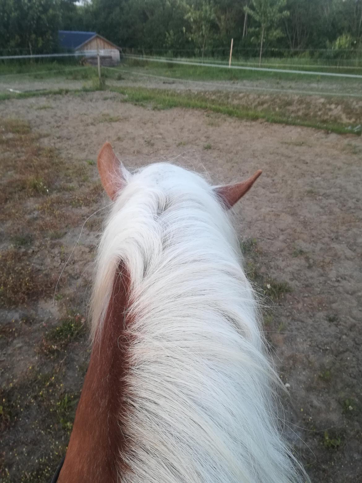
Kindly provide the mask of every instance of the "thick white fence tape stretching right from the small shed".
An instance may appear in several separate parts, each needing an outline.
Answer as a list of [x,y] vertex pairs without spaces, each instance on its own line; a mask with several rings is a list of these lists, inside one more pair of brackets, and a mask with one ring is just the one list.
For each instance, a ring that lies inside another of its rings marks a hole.
[[238,69],[244,71],[261,71],[261,72],[281,72],[285,74],[304,74],[304,75],[320,75],[320,76],[329,76],[329,77],[349,77],[351,79],[362,79],[362,75],[360,74],[342,74],[337,72],[317,72],[317,71],[297,71],[297,70],[288,70],[288,69],[266,69],[264,67],[246,67],[246,66],[238,66],[238,65],[228,65],[223,64],[212,64],[209,62],[186,62],[184,60],[175,60],[172,58],[161,58],[161,57],[147,57],[147,56],[135,56],[131,54],[124,54],[125,58],[133,58],[138,60],[146,60],[152,62],[164,62],[164,63],[172,63],[172,64],[181,64],[181,65],[195,65],[199,67],[217,67],[222,69]]

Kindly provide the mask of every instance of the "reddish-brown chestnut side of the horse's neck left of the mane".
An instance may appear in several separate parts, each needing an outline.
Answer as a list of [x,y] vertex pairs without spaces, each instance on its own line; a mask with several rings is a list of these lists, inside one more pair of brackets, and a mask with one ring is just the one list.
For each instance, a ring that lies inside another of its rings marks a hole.
[[[129,276],[117,270],[102,332],[95,339],[81,398],[58,483],[116,483],[125,450],[119,415],[127,344],[122,332],[127,321]],[[122,343],[120,342],[122,341]]]

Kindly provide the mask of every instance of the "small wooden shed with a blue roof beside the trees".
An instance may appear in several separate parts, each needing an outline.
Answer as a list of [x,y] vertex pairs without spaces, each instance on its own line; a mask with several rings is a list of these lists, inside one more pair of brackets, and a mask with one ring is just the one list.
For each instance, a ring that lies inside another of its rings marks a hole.
[[112,66],[120,61],[122,49],[105,39],[97,32],[81,32],[77,30],[58,30],[60,47],[65,51],[74,51],[87,54],[87,62],[97,64],[97,54],[99,52],[101,64]]

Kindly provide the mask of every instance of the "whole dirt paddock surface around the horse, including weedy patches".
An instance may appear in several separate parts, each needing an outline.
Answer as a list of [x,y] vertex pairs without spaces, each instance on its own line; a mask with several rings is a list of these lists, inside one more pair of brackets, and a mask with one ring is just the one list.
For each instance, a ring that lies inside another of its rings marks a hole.
[[215,183],[263,170],[235,221],[272,306],[264,328],[289,393],[284,431],[313,482],[362,481],[361,138],[154,111],[109,92],[0,103],[0,481],[49,481],[68,443],[107,140],[130,168],[171,160]]

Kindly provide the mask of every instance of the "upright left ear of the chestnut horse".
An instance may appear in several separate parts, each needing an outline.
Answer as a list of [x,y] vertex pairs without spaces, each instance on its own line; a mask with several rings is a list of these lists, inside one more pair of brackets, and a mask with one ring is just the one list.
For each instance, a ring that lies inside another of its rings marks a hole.
[[105,142],[98,154],[97,166],[100,180],[107,195],[115,199],[117,193],[125,186],[126,181],[122,173],[122,165],[114,154],[109,142]]

